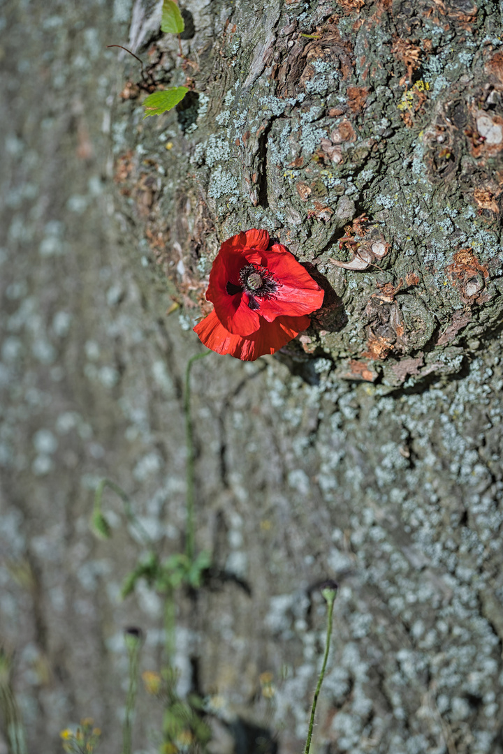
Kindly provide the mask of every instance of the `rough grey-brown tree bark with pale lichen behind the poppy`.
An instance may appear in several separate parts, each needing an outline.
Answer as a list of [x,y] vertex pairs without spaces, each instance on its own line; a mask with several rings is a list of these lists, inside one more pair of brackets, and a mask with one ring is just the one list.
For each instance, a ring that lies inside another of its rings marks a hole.
[[[2,5],[0,613],[30,751],[87,715],[120,750],[125,626],[158,667],[161,601],[117,599],[141,545],[112,498],[112,540],[94,540],[93,491],[112,477],[162,551],[182,547],[190,328],[219,243],[258,227],[324,277],[327,307],[278,357],[195,366],[196,541],[228,580],[179,605],[180,691],[213,695],[215,754],[265,734],[299,752],[324,637],[313,586],[336,578],[320,749],[498,754],[498,5],[185,9],[182,65],[173,38],[152,48],[153,3]],[[118,97],[103,48],[130,11],[158,81],[194,80],[178,112],[143,121]],[[330,261],[352,256],[376,266]],[[158,722],[140,694],[137,751]]]

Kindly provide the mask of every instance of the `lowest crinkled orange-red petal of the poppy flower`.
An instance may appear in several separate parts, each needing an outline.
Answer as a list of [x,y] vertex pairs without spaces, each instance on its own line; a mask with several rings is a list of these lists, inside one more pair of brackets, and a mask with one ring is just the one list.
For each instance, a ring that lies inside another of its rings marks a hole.
[[277,317],[274,322],[261,320],[260,328],[248,337],[229,333],[219,321],[216,311],[204,317],[195,328],[201,342],[217,354],[229,354],[243,361],[254,361],[264,354],[274,354],[303,329],[309,317]]

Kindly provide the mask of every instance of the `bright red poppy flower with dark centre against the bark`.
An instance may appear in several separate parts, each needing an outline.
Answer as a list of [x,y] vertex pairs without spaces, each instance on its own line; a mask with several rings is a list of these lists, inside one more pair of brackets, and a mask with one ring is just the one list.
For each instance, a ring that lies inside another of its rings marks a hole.
[[206,293],[214,309],[194,330],[217,354],[254,361],[274,354],[309,326],[324,292],[267,231],[238,233],[222,244]]

